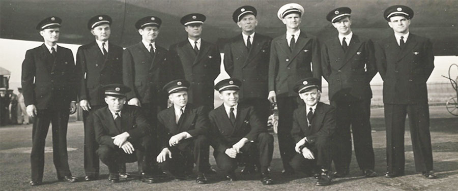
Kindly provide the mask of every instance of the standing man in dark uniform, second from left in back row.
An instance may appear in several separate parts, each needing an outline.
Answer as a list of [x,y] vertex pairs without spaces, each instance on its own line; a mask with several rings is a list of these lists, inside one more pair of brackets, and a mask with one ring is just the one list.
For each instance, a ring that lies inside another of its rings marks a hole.
[[[84,180],[96,180],[99,175],[99,158],[96,150],[94,126],[91,114],[106,106],[102,86],[123,83],[123,48],[108,43],[111,34],[111,17],[96,15],[88,22],[88,29],[95,41],[82,45],[76,53],[76,70],[79,79],[79,106],[84,121]],[[124,166],[124,165],[123,165]]]

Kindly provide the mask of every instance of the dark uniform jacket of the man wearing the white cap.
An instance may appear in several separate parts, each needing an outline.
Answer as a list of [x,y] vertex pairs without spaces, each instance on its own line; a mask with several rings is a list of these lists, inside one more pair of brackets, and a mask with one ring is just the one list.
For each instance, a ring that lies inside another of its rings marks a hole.
[[[269,59],[269,91],[277,97],[296,97],[293,90],[297,81],[306,77],[320,79],[320,46],[317,38],[301,31],[293,51],[286,34],[272,40]],[[311,63],[313,63],[311,67]]]

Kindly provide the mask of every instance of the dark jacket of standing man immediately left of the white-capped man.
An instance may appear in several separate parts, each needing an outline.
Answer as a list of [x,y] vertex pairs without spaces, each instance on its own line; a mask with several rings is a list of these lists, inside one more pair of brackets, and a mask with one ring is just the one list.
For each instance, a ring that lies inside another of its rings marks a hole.
[[267,98],[271,41],[272,38],[255,33],[248,51],[240,34],[224,47],[224,68],[227,74],[242,81],[240,99]]

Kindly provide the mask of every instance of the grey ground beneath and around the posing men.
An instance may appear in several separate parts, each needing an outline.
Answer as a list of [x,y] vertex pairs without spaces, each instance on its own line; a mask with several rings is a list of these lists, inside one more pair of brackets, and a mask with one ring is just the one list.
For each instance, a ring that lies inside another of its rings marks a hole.
[[[0,128],[0,190],[458,190],[458,117],[450,115],[445,106],[430,107],[431,137],[433,145],[434,169],[438,179],[424,179],[415,172],[413,152],[408,125],[405,134],[406,175],[387,179],[385,162],[385,125],[383,108],[371,110],[373,140],[376,157],[375,178],[364,178],[353,155],[350,174],[345,178],[333,179],[332,185],[318,187],[312,177],[301,174],[282,176],[281,160],[275,139],[271,175],[276,184],[263,186],[259,175],[238,173],[239,181],[225,181],[222,175],[209,176],[209,184],[197,185],[194,179],[145,184],[135,177],[111,184],[107,178],[108,170],[101,163],[101,177],[90,182],[58,182],[52,163],[52,138],[49,131],[45,154],[44,185],[32,187],[30,181],[30,150],[32,145],[31,125],[12,125]],[[84,177],[83,169],[83,125],[70,122],[68,128],[69,165],[74,176]],[[275,136],[276,137],[276,136]],[[210,164],[216,169],[213,156]],[[136,164],[128,164],[127,171],[135,174]],[[240,171],[240,169],[238,169]]]

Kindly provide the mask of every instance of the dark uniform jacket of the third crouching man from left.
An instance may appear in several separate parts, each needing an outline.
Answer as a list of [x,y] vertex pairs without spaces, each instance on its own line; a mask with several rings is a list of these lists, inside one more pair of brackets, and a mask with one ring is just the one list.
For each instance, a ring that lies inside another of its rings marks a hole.
[[267,132],[267,127],[257,118],[254,108],[240,103],[237,106],[235,126],[227,116],[224,104],[210,111],[209,118],[212,125],[212,146],[221,153],[242,138],[256,141],[260,133]]

